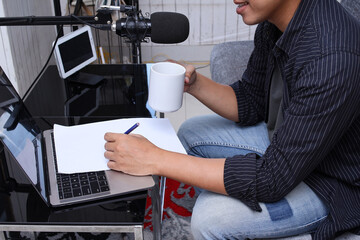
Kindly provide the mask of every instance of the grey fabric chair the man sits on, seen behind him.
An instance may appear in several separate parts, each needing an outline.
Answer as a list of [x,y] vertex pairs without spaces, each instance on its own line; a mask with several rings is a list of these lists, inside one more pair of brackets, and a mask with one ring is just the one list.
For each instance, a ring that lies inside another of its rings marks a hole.
[[[360,21],[360,0],[342,0],[341,4]],[[225,42],[215,45],[210,55],[211,78],[226,85],[241,79],[253,49],[253,41]],[[359,238],[360,236],[345,233],[336,239],[356,240]],[[281,240],[311,240],[311,235],[305,234]]]

